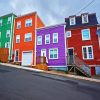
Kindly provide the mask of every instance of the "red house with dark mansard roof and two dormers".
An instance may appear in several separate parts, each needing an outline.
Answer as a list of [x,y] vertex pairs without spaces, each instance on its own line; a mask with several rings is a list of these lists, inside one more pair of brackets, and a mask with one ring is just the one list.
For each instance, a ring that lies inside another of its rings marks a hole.
[[69,63],[89,66],[91,75],[100,74],[100,38],[96,14],[69,16],[65,22]]

